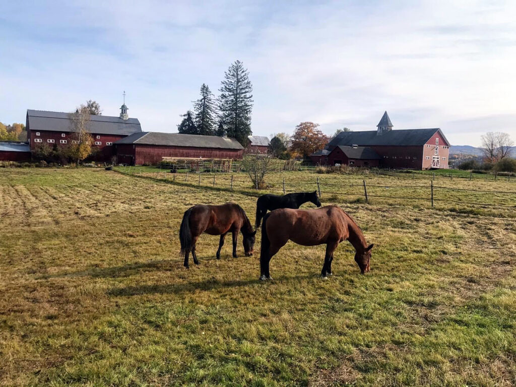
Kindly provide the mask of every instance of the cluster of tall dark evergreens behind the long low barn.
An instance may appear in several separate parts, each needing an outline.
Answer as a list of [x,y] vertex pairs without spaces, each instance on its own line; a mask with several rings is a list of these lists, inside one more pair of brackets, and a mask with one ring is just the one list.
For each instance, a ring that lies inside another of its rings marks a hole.
[[251,131],[253,107],[252,84],[249,72],[239,60],[227,71],[220,86],[218,98],[208,85],[202,84],[200,98],[193,103],[178,125],[182,134],[228,136],[246,146]]

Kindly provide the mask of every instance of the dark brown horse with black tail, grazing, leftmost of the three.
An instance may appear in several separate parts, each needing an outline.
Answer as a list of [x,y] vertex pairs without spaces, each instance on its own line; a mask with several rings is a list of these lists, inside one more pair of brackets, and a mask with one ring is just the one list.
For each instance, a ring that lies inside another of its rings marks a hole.
[[238,204],[226,203],[222,205],[197,204],[186,210],[179,230],[181,241],[181,255],[184,254],[184,266],[188,268],[188,255],[192,252],[193,262],[199,265],[195,251],[197,239],[203,232],[210,235],[220,235],[217,259],[220,260],[220,249],[228,232],[233,233],[233,256],[236,258],[236,242],[238,233],[244,235],[244,251],[246,256],[253,255],[256,231],[246,212]]

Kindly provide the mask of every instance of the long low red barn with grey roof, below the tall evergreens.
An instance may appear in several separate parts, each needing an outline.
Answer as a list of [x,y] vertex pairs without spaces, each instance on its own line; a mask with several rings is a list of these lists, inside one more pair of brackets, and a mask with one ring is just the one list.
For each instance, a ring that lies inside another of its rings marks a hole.
[[141,132],[115,142],[118,163],[157,164],[163,157],[241,159],[244,147],[234,138]]

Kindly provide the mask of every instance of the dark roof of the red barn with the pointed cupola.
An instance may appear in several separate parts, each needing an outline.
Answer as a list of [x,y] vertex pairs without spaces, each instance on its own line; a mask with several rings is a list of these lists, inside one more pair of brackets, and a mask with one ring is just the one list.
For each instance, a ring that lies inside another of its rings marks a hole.
[[342,132],[334,137],[327,147],[352,146],[422,146],[436,133],[440,132],[446,143],[449,144],[439,128],[406,129],[389,131],[379,136],[377,131]]

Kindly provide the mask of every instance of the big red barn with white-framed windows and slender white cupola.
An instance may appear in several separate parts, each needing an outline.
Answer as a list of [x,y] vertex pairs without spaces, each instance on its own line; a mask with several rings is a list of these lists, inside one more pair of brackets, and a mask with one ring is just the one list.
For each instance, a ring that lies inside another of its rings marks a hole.
[[[129,118],[127,106],[120,107],[120,117],[91,116],[88,131],[96,148],[95,159],[108,161],[115,155],[113,143],[135,132],[141,133],[137,118]],[[30,150],[45,143],[60,148],[72,143],[74,128],[72,114],[59,111],[27,110],[26,128]]]

